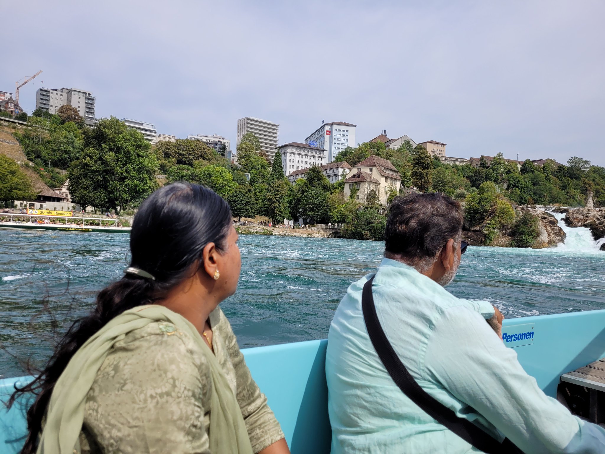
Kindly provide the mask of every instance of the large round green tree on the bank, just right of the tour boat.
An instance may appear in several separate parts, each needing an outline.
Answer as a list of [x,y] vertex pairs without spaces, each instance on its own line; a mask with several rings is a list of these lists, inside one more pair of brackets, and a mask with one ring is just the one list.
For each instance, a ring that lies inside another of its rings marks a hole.
[[116,117],[85,131],[85,149],[67,171],[74,203],[118,211],[157,188],[157,161],[143,134]]

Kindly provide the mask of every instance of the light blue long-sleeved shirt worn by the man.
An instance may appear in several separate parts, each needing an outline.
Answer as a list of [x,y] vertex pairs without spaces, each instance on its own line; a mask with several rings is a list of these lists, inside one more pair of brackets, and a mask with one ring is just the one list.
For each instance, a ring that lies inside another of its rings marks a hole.
[[[371,344],[361,309],[367,275],[350,285],[328,335],[332,454],[479,452],[437,423],[393,382]],[[603,453],[605,430],[543,393],[486,319],[487,301],[463,300],[403,263],[385,258],[374,304],[412,377],[458,416],[526,454]]]

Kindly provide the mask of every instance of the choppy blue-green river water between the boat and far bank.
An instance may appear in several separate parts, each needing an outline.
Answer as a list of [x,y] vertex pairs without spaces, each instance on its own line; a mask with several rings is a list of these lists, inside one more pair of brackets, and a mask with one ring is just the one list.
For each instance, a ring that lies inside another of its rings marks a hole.
[[[448,289],[489,300],[506,317],[605,309],[605,252],[588,229],[562,226],[557,248],[470,246]],[[240,284],[221,308],[240,347],[325,338],[347,286],[376,268],[384,248],[265,235],[241,235],[239,244]],[[90,309],[127,260],[125,234],[0,229],[0,378],[23,375],[24,360],[44,361],[53,326]]]

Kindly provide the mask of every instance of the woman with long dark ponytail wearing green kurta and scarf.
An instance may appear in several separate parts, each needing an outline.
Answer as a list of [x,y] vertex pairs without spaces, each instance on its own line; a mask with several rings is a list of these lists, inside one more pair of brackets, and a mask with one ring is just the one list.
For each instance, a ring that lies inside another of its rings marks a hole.
[[174,183],[143,202],[132,260],[44,370],[22,453],[289,453],[218,304],[240,276],[229,205]]

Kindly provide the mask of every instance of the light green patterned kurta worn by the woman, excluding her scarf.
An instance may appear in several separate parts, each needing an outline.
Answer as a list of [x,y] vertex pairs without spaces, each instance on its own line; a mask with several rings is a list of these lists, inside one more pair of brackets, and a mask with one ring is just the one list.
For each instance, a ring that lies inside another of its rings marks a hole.
[[[214,354],[237,396],[252,449],[259,452],[284,434],[220,308],[210,323]],[[212,385],[198,348],[166,322],[150,323],[117,342],[87,396],[82,453],[210,453]]]

